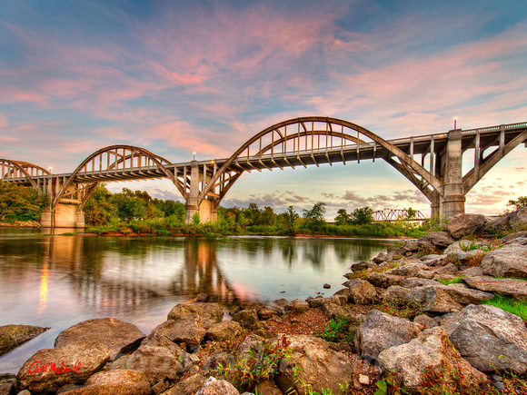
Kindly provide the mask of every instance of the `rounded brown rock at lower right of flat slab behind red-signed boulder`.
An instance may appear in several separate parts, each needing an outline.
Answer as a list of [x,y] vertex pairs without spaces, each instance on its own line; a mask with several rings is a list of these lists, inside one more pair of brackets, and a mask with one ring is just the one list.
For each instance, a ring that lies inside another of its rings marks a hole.
[[174,380],[183,372],[183,364],[163,347],[141,346],[126,363],[126,369],[144,372],[153,386],[161,380]]

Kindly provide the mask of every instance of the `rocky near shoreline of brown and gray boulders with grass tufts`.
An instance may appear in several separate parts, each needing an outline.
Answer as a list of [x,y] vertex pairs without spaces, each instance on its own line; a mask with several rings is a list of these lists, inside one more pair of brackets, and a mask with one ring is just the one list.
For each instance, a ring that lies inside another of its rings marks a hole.
[[[0,375],[0,394],[522,393],[525,321],[482,302],[527,301],[527,231],[474,235],[525,224],[527,208],[493,222],[461,214],[353,264],[333,296],[246,303],[232,320],[204,296],[148,335],[112,318],[83,321],[16,376]],[[15,339],[4,328],[0,344]]]

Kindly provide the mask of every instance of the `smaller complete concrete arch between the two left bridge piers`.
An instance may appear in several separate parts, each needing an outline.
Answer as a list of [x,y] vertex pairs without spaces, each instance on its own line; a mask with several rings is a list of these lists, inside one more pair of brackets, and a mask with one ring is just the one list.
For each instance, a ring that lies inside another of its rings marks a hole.
[[[134,145],[115,144],[104,147],[89,155],[83,163],[78,165],[75,172],[65,180],[60,191],[55,194],[52,210],[62,199],[71,198],[74,195],[77,198],[80,197],[80,208],[82,209],[99,183],[123,181],[124,175],[130,179],[138,178],[138,176],[140,178],[167,177],[185,197],[183,183],[166,168],[168,164],[170,162],[162,156]],[[158,173],[147,170],[153,165],[159,170]],[[144,171],[142,167],[144,167]],[[108,173],[108,171],[110,172]],[[104,180],[100,176],[103,172],[105,173]],[[115,179],[113,179],[112,174],[115,175]]]

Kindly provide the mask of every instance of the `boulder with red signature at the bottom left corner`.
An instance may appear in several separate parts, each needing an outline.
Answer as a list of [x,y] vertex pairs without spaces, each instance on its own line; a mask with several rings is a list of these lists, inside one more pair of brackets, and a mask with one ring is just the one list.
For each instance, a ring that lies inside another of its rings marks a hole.
[[18,370],[18,388],[47,393],[65,384],[80,384],[108,360],[110,352],[106,346],[89,341],[39,350]]

